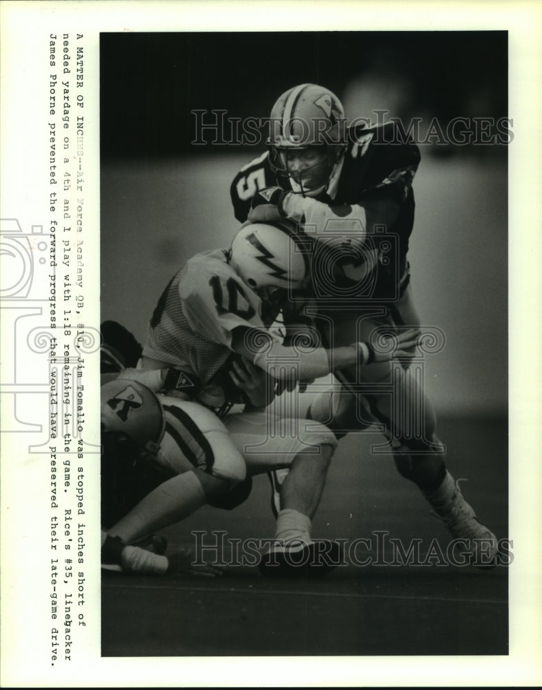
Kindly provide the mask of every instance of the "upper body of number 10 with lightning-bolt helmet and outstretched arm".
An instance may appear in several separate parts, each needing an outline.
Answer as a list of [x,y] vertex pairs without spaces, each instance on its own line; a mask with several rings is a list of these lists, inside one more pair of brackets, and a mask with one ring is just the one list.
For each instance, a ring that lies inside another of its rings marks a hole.
[[[352,342],[334,350],[283,344],[273,328],[288,308],[287,333],[302,313],[310,285],[310,238],[300,237],[286,221],[246,224],[229,250],[197,254],[172,277],[154,309],[143,368],[179,368],[199,377],[197,400],[221,409],[228,400],[228,367],[234,355],[259,366],[274,382],[312,380],[361,366],[412,355],[414,329],[388,337],[387,346]],[[303,333],[306,335],[306,333]],[[312,334],[317,335],[317,334]],[[388,334],[389,335],[389,334]],[[391,347],[390,347],[391,343]]]

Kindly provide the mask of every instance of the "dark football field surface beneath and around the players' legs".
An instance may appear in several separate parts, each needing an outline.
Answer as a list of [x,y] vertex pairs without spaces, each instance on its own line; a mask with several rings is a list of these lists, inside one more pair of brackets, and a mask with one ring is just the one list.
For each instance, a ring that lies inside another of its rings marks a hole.
[[[452,475],[468,479],[465,498],[497,538],[512,538],[505,420],[439,426]],[[345,564],[323,578],[264,578],[243,559],[244,540],[271,538],[274,529],[270,484],[255,477],[239,508],[205,507],[165,531],[168,554],[218,544],[214,556],[201,555],[228,563],[221,577],[103,577],[102,655],[507,654],[513,562],[442,564],[448,531],[390,455],[370,453],[379,442],[378,433],[341,440],[313,521],[314,538],[343,540]],[[414,544],[416,562],[401,564],[398,542],[405,551]]]

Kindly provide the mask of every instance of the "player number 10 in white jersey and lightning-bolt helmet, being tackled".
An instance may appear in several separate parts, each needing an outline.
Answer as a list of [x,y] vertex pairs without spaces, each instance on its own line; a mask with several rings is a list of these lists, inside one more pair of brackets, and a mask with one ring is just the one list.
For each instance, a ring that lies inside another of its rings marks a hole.
[[[194,399],[219,415],[243,400],[239,388],[246,390],[253,374],[265,373],[257,404],[245,398],[248,410],[228,415],[223,423],[250,475],[290,468],[281,487],[279,544],[261,563],[262,571],[273,573],[278,572],[272,570],[277,558],[281,566],[288,565],[286,555],[292,549],[311,551],[310,520],[336,445],[333,433],[322,424],[299,419],[292,411],[284,414],[274,406],[262,409],[273,400],[274,386],[279,382],[291,387],[296,380],[312,380],[363,362],[409,357],[417,337],[414,331],[402,333],[385,351],[365,342],[332,352],[303,342],[283,344],[283,334],[272,326],[286,297],[301,293],[299,304],[304,304],[303,290],[309,281],[307,248],[288,224],[245,226],[229,250],[196,255],[172,278],[152,315],[141,359],[141,375],[174,369],[180,380],[198,380],[201,386],[192,392]],[[179,386],[171,391],[163,382],[163,388],[166,395],[179,396]],[[198,419],[199,414],[194,415],[201,426]],[[206,479],[209,476],[205,473]],[[194,501],[201,504],[203,494],[195,487],[194,483]],[[158,519],[163,523],[163,515]],[[148,517],[145,522],[147,531],[156,529]],[[130,530],[122,534],[127,542],[139,537],[132,526]]]

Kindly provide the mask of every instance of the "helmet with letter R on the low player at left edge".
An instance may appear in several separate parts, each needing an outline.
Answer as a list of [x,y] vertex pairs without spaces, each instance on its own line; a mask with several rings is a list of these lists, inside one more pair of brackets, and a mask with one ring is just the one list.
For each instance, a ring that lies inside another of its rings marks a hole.
[[165,429],[161,403],[150,388],[130,379],[101,386],[101,429],[126,434],[142,449],[159,444]]

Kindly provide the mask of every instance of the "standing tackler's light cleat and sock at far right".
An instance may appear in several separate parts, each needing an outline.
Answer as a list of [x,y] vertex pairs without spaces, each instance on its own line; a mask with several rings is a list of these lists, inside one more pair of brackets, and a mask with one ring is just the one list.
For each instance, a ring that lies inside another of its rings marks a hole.
[[481,524],[472,506],[465,500],[458,479],[454,482],[452,475],[446,477],[439,487],[440,500],[431,500],[433,515],[448,527],[454,539],[465,540],[464,553],[470,553],[472,565],[488,567],[496,565],[498,542],[496,536],[488,527]]

